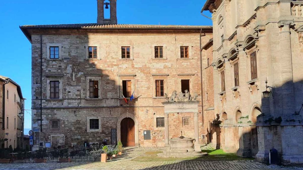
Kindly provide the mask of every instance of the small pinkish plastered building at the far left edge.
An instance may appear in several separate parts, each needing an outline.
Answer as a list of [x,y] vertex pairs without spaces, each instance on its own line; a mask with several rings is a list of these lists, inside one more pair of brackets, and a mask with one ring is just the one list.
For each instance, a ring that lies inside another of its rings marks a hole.
[[1,148],[22,147],[24,130],[24,98],[21,87],[12,79],[0,76]]

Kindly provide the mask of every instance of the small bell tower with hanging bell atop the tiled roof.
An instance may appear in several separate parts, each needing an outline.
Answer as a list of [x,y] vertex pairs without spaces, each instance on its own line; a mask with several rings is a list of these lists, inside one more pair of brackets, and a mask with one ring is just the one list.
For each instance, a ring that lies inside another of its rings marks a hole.
[[[97,24],[111,25],[117,24],[117,0],[97,0],[98,18]],[[105,10],[110,10],[110,17],[104,18]]]

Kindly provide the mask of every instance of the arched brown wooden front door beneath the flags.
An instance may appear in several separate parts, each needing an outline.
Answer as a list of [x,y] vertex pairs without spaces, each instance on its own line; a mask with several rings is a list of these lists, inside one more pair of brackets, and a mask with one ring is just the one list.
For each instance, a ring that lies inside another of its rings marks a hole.
[[121,142],[123,146],[135,146],[135,122],[131,118],[121,121]]

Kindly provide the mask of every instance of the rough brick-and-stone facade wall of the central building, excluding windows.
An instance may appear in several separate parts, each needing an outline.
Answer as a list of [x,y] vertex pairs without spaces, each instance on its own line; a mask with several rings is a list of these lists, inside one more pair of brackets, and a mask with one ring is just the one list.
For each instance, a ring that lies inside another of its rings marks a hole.
[[[205,44],[212,35],[202,38]],[[40,36],[32,36],[32,121],[40,127]],[[47,45],[60,44],[61,59],[47,58]],[[98,45],[100,59],[86,59],[87,44]],[[154,59],[153,44],[164,46],[165,58]],[[180,59],[180,46],[188,45],[190,58]],[[131,46],[131,59],[121,59],[121,46]],[[155,80],[164,80],[164,93],[181,91],[181,79],[190,79],[190,93],[201,94],[199,34],[89,34],[42,35],[42,132],[40,142],[51,142],[52,136],[64,135],[64,144],[86,142],[111,143],[111,129],[123,114],[132,114],[138,121],[140,146],[163,146],[164,129],[156,127],[156,118],[164,117],[161,102],[155,97]],[[74,76],[75,75],[75,76]],[[134,76],[135,75],[135,76]],[[87,99],[87,78],[99,77],[100,99]],[[74,78],[75,77],[75,78]],[[47,82],[60,80],[62,96],[48,99]],[[138,99],[126,104],[121,99],[122,80],[132,81]],[[201,101],[201,95],[198,97]],[[78,109],[77,109],[78,108]],[[201,108],[201,103],[200,103]],[[205,134],[202,111],[199,110],[199,136]],[[86,132],[87,116],[101,117],[101,132]],[[182,127],[182,117],[193,113],[169,115],[170,137],[193,136],[193,128]],[[50,120],[59,120],[59,130],[51,130]],[[144,140],[144,130],[151,130],[151,140]],[[55,138],[54,138],[55,139]],[[201,140],[201,139],[200,139]],[[201,142],[201,141],[200,141]]]

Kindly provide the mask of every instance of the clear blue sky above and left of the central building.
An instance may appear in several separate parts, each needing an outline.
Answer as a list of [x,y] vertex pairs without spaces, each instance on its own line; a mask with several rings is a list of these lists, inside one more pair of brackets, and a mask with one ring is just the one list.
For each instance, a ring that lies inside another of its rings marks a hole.
[[[211,25],[200,14],[206,0],[117,0],[118,24]],[[211,16],[208,11],[204,14]],[[9,0],[0,4],[0,75],[21,88],[31,109],[31,44],[19,25],[95,23],[96,0]],[[25,128],[31,128],[31,111]]]

